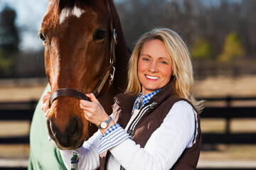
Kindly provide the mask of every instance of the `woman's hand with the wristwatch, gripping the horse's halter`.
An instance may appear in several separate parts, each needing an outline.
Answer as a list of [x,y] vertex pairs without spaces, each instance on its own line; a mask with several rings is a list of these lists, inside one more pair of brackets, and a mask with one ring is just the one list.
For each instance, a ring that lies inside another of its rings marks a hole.
[[[110,116],[107,115],[97,98],[95,98],[93,94],[86,94],[86,96],[89,97],[91,101],[80,100],[80,108],[82,108],[85,118],[95,125],[100,125],[102,121],[108,120]],[[102,134],[112,125],[114,125],[114,121],[111,121],[110,125],[108,125],[105,130],[100,130]]]

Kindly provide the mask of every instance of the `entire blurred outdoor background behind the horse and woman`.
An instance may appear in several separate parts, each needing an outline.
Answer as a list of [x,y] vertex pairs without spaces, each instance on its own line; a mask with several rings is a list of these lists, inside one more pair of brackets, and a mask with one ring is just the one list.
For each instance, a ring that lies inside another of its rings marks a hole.
[[[256,1],[114,0],[127,45],[175,30],[206,99],[198,169],[256,169]],[[0,0],[0,169],[26,167],[33,110],[47,79],[38,29],[47,0]],[[25,115],[25,116],[21,116]]]

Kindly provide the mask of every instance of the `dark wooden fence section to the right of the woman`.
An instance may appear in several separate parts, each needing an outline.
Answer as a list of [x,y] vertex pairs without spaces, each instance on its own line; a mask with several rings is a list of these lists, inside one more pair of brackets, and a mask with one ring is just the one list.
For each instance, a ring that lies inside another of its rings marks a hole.
[[256,144],[256,132],[230,132],[230,120],[237,118],[255,118],[255,106],[233,107],[233,101],[255,101],[256,97],[225,97],[225,98],[207,98],[206,101],[225,101],[225,106],[206,107],[201,113],[201,118],[220,118],[225,119],[224,133],[203,133],[203,144]]

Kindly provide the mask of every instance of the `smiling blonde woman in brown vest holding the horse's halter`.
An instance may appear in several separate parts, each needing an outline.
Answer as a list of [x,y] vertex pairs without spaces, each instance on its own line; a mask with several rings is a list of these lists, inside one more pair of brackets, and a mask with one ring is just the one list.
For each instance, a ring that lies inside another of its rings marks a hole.
[[[111,116],[93,94],[80,101],[99,130],[79,148],[79,169],[196,169],[201,147],[193,69],[188,49],[173,30],[142,35],[129,62],[128,86],[114,98]],[[43,103],[47,103],[48,93]],[[48,105],[43,105],[48,115]],[[72,151],[60,151],[70,169]]]

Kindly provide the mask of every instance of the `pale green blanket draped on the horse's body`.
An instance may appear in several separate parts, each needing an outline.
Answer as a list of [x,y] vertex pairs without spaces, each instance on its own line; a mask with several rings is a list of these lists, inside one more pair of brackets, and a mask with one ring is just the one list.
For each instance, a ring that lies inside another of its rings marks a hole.
[[44,116],[42,107],[42,97],[50,91],[49,84],[43,91],[38,101],[36,110],[33,114],[33,120],[30,130],[30,155],[28,162],[28,170],[65,170],[65,164],[60,156],[59,149],[55,146],[53,140],[48,140],[48,131],[46,128],[46,117]]

